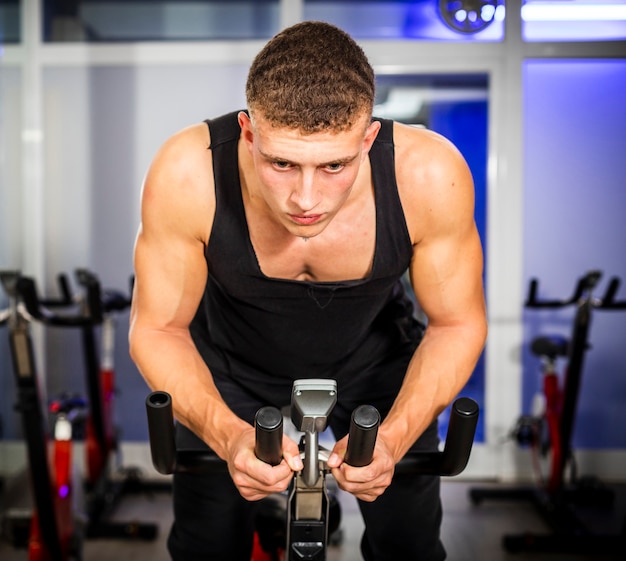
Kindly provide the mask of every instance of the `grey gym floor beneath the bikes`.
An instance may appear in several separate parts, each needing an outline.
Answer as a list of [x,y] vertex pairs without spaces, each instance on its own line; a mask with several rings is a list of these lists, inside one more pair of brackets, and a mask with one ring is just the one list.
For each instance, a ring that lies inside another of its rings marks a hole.
[[[533,508],[524,502],[489,501],[473,505],[468,498],[470,488],[496,487],[478,482],[444,480],[442,498],[444,519],[442,539],[448,551],[449,561],[623,561],[624,550],[615,556],[507,553],[501,545],[505,534],[547,532]],[[596,521],[601,531],[616,533],[626,521],[626,485],[616,488],[616,501],[610,517],[601,514]],[[340,494],[342,522],[339,544],[329,547],[328,561],[360,561],[358,543],[362,530],[356,503],[350,495]],[[168,492],[150,495],[127,496],[116,507],[114,517],[121,520],[155,522],[159,535],[154,541],[86,540],[84,561],[167,561],[165,547],[171,523],[171,497]],[[626,530],[626,528],[625,528]],[[0,541],[2,561],[27,561],[24,550],[14,549],[6,541]]]

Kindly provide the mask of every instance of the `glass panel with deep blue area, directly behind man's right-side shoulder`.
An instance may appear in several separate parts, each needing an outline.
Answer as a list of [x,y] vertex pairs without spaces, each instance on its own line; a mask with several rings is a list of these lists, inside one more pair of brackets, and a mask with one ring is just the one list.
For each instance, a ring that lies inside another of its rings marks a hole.
[[[381,75],[377,77],[374,114],[412,125],[424,126],[451,140],[465,157],[474,178],[475,220],[486,255],[487,240],[487,110],[488,79],[467,75]],[[419,309],[419,303],[418,309]],[[485,369],[481,357],[461,392],[475,399],[484,411]],[[476,441],[484,442],[484,417]],[[445,438],[449,409],[439,418]]]

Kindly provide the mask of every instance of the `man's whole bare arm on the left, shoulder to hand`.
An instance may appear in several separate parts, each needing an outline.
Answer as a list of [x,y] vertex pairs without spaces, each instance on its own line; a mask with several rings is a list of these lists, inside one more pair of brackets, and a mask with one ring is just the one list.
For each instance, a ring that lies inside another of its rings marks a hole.
[[228,461],[242,495],[258,499],[284,489],[291,469],[256,460],[252,427],[223,402],[189,333],[208,274],[204,248],[214,214],[208,145],[205,125],[186,129],[164,144],[146,176],[130,351],[148,385],[172,395],[176,418]]

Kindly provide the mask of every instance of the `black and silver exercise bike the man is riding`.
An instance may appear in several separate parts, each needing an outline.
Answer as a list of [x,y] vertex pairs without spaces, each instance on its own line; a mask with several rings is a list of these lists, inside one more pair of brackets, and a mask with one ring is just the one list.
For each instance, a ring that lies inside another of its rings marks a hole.
[[[294,475],[284,513],[284,541],[264,536],[257,527],[252,561],[325,561],[329,527],[327,466],[329,451],[320,447],[319,434],[337,400],[334,380],[303,379],[293,384],[290,418],[303,433],[300,442],[303,469]],[[226,463],[211,450],[177,450],[174,440],[172,399],[166,392],[152,392],[146,399],[152,462],[159,473],[225,472]],[[396,473],[453,476],[469,461],[478,421],[478,405],[469,398],[457,399],[442,452],[412,452],[396,465]],[[380,414],[369,405],[352,413],[345,461],[352,466],[371,462]],[[259,409],[255,417],[257,457],[271,465],[281,461],[283,414],[274,407]],[[266,544],[272,544],[268,547]]]

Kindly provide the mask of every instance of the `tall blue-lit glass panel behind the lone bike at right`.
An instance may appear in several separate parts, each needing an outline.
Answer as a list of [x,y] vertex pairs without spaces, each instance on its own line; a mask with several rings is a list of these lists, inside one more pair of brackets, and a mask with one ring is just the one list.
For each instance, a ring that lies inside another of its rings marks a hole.
[[[626,300],[626,61],[529,60],[524,94],[524,276],[538,297],[570,297],[579,278],[598,269],[594,295],[611,278]],[[537,336],[571,338],[573,306],[524,310],[524,411],[541,394],[541,361],[529,347]],[[626,310],[594,309],[590,346],[578,392],[573,444],[626,448]],[[565,359],[557,370],[564,383]]]

